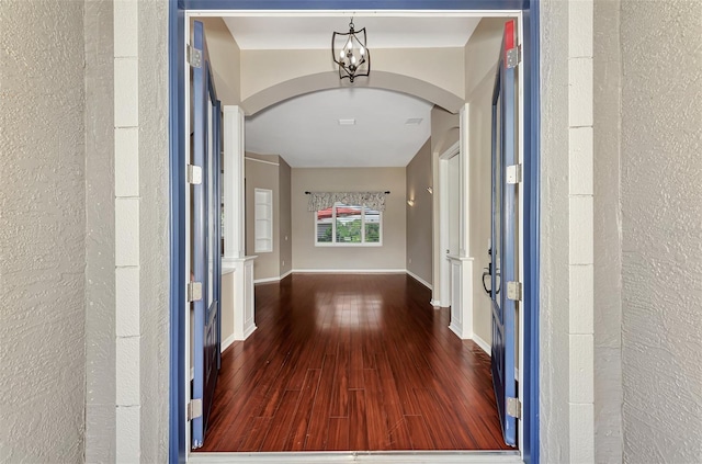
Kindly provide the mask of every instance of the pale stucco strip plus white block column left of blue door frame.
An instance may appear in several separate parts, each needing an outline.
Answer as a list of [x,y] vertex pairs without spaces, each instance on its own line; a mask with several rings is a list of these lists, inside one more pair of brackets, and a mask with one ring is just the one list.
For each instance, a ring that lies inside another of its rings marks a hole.
[[116,378],[118,462],[168,459],[168,5],[114,3],[115,313],[117,326],[131,324],[113,341],[115,377],[95,387]]

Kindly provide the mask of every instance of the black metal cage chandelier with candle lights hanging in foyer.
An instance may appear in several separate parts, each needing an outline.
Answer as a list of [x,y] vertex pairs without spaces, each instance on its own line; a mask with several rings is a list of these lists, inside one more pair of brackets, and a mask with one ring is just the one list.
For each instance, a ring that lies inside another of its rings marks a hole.
[[369,76],[371,72],[371,54],[365,46],[365,27],[353,29],[353,18],[349,23],[349,32],[335,32],[331,35],[331,57],[339,65],[339,79]]

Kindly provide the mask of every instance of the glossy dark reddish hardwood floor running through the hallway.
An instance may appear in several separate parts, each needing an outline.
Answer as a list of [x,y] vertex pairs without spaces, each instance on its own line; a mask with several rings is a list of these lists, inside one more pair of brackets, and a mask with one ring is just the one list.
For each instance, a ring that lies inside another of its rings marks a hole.
[[400,274],[257,285],[201,451],[499,450],[490,359]]

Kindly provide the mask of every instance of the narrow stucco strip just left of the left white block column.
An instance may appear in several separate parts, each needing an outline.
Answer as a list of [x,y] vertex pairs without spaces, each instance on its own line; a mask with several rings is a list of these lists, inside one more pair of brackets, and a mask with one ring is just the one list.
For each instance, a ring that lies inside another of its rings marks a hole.
[[86,462],[115,460],[114,9],[86,2]]

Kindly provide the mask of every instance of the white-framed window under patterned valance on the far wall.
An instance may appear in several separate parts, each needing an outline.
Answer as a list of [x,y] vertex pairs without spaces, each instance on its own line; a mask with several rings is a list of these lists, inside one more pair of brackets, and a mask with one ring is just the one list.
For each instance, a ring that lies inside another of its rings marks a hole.
[[383,244],[383,214],[367,206],[337,202],[315,215],[318,246],[380,246]]

